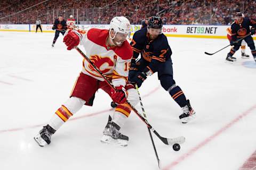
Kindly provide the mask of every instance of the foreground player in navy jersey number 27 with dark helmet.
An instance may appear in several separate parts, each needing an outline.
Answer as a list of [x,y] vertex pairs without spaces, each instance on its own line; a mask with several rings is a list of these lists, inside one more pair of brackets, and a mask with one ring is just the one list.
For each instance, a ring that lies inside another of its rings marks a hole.
[[[172,50],[166,36],[162,33],[162,27],[162,19],[152,16],[146,28],[134,33],[131,41],[133,58],[129,80],[140,87],[148,76],[157,72],[162,87],[182,108],[182,114],[179,116],[181,122],[187,123],[195,117],[195,111],[181,88],[173,80]],[[141,58],[135,62],[139,54]]]

